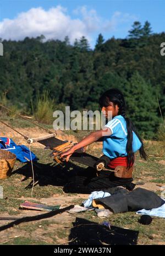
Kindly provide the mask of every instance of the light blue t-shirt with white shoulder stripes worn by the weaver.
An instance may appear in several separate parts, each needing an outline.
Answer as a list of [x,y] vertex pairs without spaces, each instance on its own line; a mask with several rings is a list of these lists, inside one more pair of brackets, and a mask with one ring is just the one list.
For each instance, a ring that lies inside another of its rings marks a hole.
[[[127,123],[123,116],[119,115],[109,121],[105,127],[111,129],[110,136],[103,137],[103,154],[110,159],[119,156],[127,156]],[[141,142],[133,132],[133,152],[141,148]]]

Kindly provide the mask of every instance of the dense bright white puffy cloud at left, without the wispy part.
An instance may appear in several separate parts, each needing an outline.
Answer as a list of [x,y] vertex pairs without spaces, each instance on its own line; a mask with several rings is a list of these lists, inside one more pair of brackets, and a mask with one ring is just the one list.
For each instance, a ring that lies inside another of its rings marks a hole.
[[21,40],[41,34],[46,39],[59,40],[68,35],[71,42],[83,35],[89,39],[86,24],[80,19],[71,19],[61,6],[47,11],[41,7],[32,8],[15,19],[0,22],[0,37],[3,39]]

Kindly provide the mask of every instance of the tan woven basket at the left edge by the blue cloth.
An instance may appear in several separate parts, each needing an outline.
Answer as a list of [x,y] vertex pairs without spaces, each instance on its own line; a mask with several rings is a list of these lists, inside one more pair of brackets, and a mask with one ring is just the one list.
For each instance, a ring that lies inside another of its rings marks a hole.
[[16,156],[10,151],[0,149],[0,179],[8,178],[13,170]]

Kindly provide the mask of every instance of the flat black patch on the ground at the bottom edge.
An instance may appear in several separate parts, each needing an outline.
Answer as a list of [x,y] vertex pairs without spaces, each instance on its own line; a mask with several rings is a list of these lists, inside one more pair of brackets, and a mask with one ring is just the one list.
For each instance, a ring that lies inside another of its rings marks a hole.
[[70,245],[101,245],[101,244],[136,244],[139,231],[121,227],[97,224],[89,220],[76,217],[70,230]]

